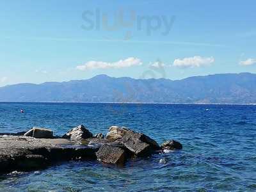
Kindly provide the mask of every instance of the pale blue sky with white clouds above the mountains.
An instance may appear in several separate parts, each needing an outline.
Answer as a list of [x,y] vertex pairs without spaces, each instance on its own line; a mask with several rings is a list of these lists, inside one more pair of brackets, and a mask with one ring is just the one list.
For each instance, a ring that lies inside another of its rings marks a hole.
[[0,86],[256,73],[256,1],[0,0]]

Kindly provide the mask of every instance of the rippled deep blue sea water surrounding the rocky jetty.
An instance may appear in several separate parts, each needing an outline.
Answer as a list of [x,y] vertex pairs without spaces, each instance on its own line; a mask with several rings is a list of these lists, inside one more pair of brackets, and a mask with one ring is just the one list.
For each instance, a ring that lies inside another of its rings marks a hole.
[[0,132],[38,126],[62,135],[79,124],[104,134],[122,125],[159,143],[178,140],[183,150],[123,168],[70,161],[1,175],[0,191],[256,191],[256,106],[0,103]]

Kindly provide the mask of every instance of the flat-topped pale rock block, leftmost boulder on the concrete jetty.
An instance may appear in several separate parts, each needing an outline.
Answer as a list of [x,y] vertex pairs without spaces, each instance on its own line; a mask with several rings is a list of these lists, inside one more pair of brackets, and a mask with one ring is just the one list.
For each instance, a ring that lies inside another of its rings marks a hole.
[[30,136],[33,138],[45,138],[45,139],[53,138],[51,129],[45,129],[45,128],[39,128],[39,127],[33,127],[28,132],[26,132],[24,136]]

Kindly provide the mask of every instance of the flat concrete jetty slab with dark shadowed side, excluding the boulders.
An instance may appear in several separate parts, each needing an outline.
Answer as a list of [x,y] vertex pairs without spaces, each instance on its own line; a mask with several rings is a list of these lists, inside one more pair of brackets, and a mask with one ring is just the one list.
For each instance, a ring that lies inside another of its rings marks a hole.
[[94,160],[98,150],[72,140],[0,136],[0,173],[40,170],[59,161]]

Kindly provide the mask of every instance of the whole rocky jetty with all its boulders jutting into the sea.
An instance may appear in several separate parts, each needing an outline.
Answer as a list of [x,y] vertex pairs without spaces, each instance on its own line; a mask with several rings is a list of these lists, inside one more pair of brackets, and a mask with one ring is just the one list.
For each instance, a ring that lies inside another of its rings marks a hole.
[[178,141],[159,146],[147,135],[125,127],[110,127],[106,138],[101,133],[93,136],[84,125],[62,137],[53,136],[49,129],[34,127],[28,132],[0,133],[0,173],[41,170],[69,160],[97,159],[100,163],[123,165],[132,158],[177,149],[182,149]]

